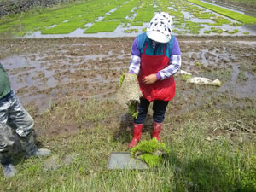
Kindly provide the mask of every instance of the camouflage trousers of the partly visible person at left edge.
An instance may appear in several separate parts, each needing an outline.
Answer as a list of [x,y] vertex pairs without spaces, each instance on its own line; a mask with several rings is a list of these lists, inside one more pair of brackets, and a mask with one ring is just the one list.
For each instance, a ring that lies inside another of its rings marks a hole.
[[26,153],[35,148],[34,121],[13,90],[0,99],[0,160],[9,156],[15,140]]

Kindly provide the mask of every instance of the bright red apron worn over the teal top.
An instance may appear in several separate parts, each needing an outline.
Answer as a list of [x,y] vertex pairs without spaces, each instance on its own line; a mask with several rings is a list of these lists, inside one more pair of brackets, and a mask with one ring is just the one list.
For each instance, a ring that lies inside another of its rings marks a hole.
[[164,55],[146,55],[148,42],[141,56],[141,68],[137,76],[143,98],[149,102],[154,100],[170,101],[175,96],[175,81],[173,76],[164,80],[158,80],[154,84],[143,84],[143,78],[150,74],[158,73],[169,65],[169,58],[166,56],[166,45]]

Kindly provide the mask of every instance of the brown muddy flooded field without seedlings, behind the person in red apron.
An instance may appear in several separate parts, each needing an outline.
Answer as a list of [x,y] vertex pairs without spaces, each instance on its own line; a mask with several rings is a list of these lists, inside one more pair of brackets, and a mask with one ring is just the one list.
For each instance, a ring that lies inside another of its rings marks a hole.
[[[20,100],[25,104],[34,102],[43,111],[49,107],[51,100],[57,101],[64,97],[83,100],[115,96],[119,76],[127,72],[129,67],[133,40],[3,40],[0,42],[0,61],[7,69],[12,87]],[[182,50],[183,70],[195,76],[220,79],[223,85],[217,89],[219,93],[239,98],[256,98],[255,39],[178,40]],[[196,66],[195,62],[200,62],[200,66]],[[240,72],[243,74],[241,78]],[[177,79],[180,77],[177,76]],[[180,89],[178,82],[177,89]]]

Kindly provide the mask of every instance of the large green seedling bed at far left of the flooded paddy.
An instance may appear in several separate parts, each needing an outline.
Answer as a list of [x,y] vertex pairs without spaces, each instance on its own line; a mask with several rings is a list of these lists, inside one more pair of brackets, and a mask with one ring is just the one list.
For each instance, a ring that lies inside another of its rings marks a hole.
[[[69,33],[88,22],[95,21],[96,17],[105,15],[106,12],[118,6],[119,3],[124,3],[124,0],[71,3],[64,9],[46,11],[40,15],[25,16],[20,20],[9,22],[9,26],[5,27],[4,32],[11,30],[15,35],[20,36],[35,31],[41,31],[43,34]],[[3,31],[1,30],[2,27],[1,25],[0,32]]]

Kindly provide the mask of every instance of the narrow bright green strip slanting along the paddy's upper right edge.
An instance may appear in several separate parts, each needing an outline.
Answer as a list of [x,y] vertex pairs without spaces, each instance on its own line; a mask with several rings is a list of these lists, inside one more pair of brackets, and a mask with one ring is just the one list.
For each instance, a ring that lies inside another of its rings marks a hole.
[[212,4],[203,3],[199,0],[187,0],[187,1],[190,2],[190,3],[195,3],[195,4],[197,4],[197,5],[199,5],[203,8],[210,9],[214,12],[217,12],[218,14],[230,17],[231,19],[238,20],[238,21],[240,21],[242,23],[245,23],[245,24],[255,24],[256,23],[256,18],[252,17],[252,16],[242,15],[242,14],[236,13],[234,11],[224,9],[224,8],[220,8],[220,7],[212,5]]

